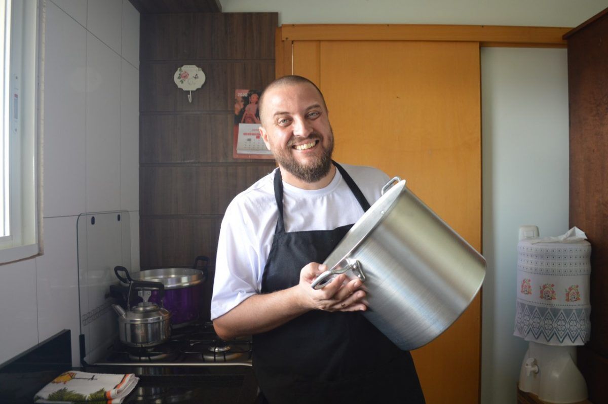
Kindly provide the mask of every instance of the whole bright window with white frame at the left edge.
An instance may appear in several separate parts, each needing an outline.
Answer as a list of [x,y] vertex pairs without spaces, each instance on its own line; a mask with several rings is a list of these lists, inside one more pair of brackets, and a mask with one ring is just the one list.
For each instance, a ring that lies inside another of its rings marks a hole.
[[44,0],[0,0],[0,264],[40,253],[39,14]]

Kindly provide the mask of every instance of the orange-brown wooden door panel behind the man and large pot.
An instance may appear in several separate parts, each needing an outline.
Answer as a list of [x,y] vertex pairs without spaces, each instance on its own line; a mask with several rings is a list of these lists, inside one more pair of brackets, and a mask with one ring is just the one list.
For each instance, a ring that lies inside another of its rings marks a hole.
[[[406,179],[481,251],[479,44],[293,41],[285,49],[292,72],[325,95],[334,158]],[[444,334],[412,352],[427,403],[478,403],[480,315],[478,295]]]

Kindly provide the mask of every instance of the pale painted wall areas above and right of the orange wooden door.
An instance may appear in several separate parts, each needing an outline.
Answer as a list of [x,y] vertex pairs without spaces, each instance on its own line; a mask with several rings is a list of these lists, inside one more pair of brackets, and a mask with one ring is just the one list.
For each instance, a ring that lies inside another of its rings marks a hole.
[[[576,27],[606,0],[222,0],[223,12],[278,12],[279,24]],[[482,404],[516,401],[527,343],[513,336],[518,228],[568,225],[565,49],[482,49]],[[583,229],[584,230],[584,229]]]

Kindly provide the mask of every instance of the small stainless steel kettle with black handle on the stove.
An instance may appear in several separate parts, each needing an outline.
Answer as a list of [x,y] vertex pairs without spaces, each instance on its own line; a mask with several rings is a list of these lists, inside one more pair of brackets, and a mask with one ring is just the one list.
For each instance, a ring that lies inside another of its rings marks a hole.
[[[164,292],[162,283],[133,281],[129,286],[126,310],[118,304],[112,305],[119,315],[119,337],[122,343],[137,348],[147,348],[169,339],[171,314],[167,309],[148,301],[153,289],[159,290],[162,296]],[[137,294],[143,301],[137,306],[131,306],[131,298],[134,297],[133,293],[136,290],[139,290]]]

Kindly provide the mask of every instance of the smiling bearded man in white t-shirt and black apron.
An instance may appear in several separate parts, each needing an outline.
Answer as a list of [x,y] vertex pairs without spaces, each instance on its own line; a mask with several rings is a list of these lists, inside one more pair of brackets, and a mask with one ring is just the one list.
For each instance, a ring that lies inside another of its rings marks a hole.
[[216,332],[253,335],[269,403],[424,403],[409,352],[361,315],[361,281],[339,275],[321,290],[310,286],[389,177],[331,160],[328,111],[311,81],[275,80],[258,108],[278,169],[226,210],[213,285]]

